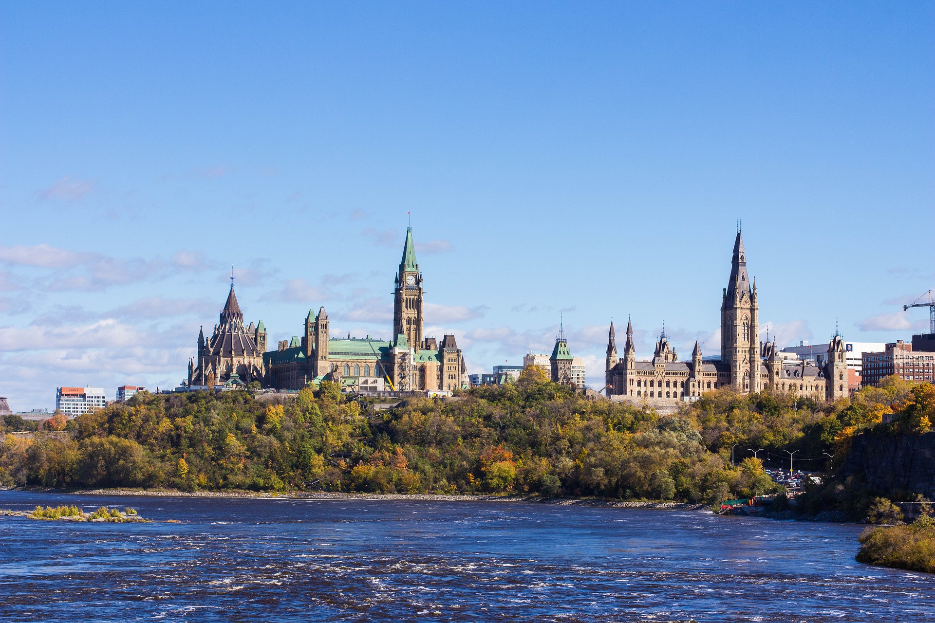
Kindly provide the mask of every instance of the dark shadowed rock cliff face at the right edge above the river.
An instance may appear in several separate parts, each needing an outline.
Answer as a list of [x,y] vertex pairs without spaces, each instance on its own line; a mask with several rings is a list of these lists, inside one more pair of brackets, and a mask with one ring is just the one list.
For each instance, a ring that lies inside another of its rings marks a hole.
[[867,484],[881,492],[906,491],[935,499],[935,432],[858,435],[839,474],[863,474]]

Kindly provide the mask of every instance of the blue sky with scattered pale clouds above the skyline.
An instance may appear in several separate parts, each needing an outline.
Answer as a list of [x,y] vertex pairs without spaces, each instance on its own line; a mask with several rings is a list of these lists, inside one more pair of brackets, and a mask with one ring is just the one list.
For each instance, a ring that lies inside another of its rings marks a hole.
[[0,395],[173,387],[233,265],[270,343],[426,333],[471,372],[611,317],[718,345],[735,222],[784,344],[935,287],[930,3],[5,3]]

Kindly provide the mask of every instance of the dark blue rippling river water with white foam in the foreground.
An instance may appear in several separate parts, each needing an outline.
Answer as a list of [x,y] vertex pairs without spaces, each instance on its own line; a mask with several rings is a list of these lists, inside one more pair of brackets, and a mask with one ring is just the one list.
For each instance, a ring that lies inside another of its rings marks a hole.
[[156,521],[0,517],[4,621],[935,621],[935,576],[855,562],[854,525],[0,491],[0,508],[37,503]]

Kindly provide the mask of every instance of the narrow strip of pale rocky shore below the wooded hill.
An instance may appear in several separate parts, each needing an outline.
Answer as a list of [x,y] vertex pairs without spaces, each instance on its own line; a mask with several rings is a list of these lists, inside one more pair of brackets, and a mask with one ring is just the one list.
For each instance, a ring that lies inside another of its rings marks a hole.
[[69,495],[96,496],[148,496],[164,498],[255,498],[275,500],[395,500],[420,502],[525,502],[554,504],[558,506],[595,506],[606,508],[646,508],[654,510],[701,510],[705,504],[652,502],[636,500],[601,500],[598,498],[540,498],[538,495],[446,495],[441,493],[271,493],[269,491],[179,491],[176,489],[94,488],[62,489],[45,487],[15,487],[5,490],[32,491],[36,493],[65,493]]

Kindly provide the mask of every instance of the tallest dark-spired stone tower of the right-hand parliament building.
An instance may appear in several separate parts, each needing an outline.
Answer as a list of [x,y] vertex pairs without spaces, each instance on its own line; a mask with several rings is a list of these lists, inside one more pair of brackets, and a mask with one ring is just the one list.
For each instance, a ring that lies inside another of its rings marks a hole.
[[741,393],[759,389],[759,306],[747,275],[741,232],[734,241],[730,279],[721,304],[721,361],[730,366],[730,386]]

